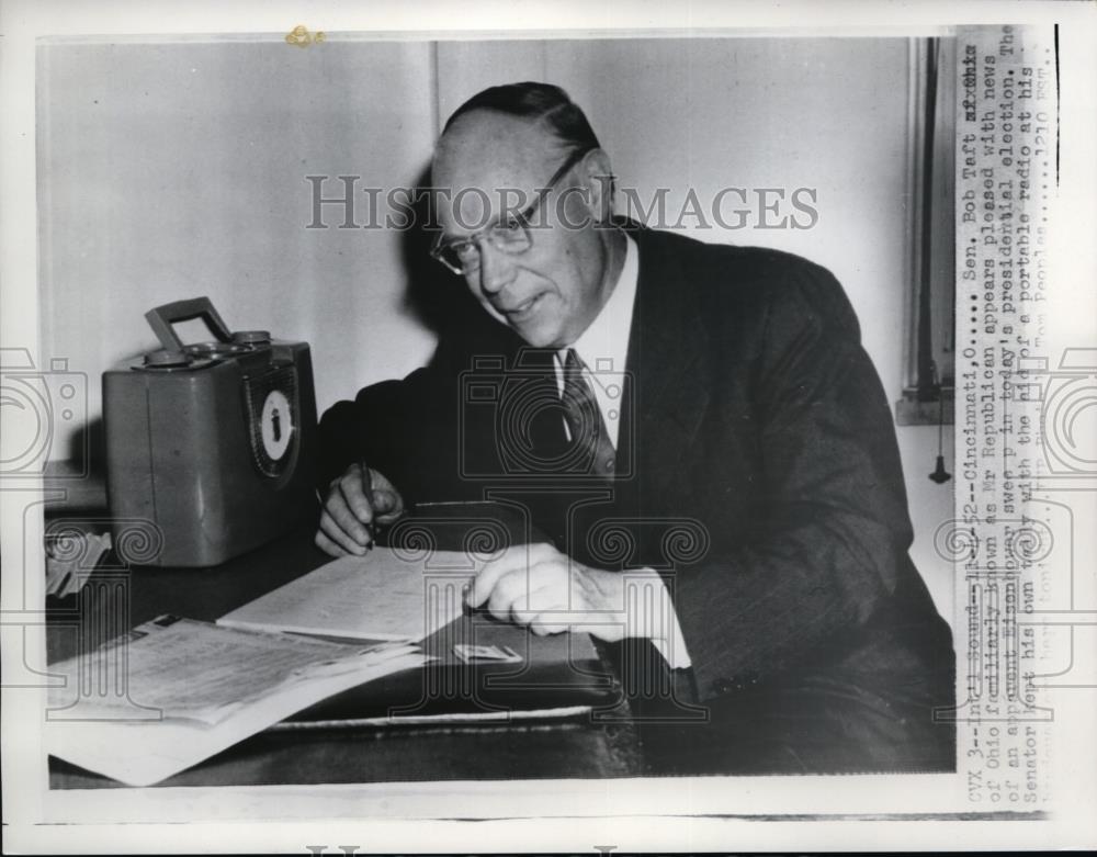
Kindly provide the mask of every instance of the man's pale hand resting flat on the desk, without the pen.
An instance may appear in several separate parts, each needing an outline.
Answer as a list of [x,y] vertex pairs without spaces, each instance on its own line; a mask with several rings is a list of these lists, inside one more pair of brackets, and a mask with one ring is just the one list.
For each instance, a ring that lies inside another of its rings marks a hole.
[[625,636],[626,575],[590,568],[551,544],[519,544],[487,563],[465,600],[533,633],[583,630],[609,642]]

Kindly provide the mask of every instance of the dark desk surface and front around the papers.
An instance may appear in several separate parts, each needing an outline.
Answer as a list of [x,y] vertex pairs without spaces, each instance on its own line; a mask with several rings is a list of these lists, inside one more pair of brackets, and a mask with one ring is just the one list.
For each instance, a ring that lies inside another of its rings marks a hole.
[[[50,662],[165,612],[214,620],[329,557],[314,529],[295,532],[215,568],[102,567],[79,596],[48,605]],[[161,786],[392,782],[453,779],[625,777],[643,770],[626,719],[386,725],[267,731]],[[50,787],[110,788],[114,780],[50,759]]]

